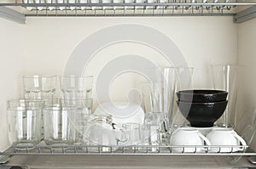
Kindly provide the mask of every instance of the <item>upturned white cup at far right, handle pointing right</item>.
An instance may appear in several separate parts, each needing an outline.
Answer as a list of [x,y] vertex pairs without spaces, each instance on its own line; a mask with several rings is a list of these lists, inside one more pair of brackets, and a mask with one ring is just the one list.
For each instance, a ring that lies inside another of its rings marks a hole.
[[210,140],[212,147],[209,149],[212,152],[236,152],[245,150],[240,145],[246,146],[247,143],[241,138],[232,128],[212,128],[212,132],[207,134],[207,138]]

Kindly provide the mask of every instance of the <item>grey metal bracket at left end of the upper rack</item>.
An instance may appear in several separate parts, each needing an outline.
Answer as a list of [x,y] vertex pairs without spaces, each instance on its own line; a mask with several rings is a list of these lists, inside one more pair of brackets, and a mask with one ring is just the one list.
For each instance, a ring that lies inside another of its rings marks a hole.
[[25,14],[21,14],[11,8],[7,7],[0,7],[0,17],[7,19],[7,20],[12,20],[15,21],[19,24],[25,24],[26,22],[26,17]]

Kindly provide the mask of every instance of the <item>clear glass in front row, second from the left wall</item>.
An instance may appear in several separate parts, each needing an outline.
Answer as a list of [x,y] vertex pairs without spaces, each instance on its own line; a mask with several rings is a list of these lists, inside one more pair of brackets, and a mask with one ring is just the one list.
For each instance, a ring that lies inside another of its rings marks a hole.
[[63,146],[73,144],[75,129],[69,117],[75,115],[75,107],[61,104],[48,105],[44,108],[44,142],[48,145]]

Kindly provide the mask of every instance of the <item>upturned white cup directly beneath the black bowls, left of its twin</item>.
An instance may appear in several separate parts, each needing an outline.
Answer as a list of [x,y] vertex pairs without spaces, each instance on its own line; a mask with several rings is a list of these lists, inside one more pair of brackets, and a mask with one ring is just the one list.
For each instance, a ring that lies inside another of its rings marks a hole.
[[[198,152],[205,151],[203,146],[211,145],[210,141],[198,132],[198,130],[191,127],[180,127],[172,133],[170,144],[177,146],[172,148],[174,151],[179,152]],[[178,147],[180,146],[180,147]]]

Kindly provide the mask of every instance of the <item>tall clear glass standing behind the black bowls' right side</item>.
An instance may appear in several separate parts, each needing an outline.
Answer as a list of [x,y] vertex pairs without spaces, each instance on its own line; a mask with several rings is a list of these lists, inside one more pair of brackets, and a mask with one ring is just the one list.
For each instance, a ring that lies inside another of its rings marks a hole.
[[239,65],[211,65],[213,87],[228,92],[228,105],[215,124],[218,127],[236,126],[237,76]]

